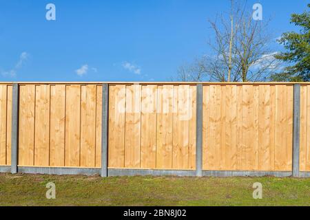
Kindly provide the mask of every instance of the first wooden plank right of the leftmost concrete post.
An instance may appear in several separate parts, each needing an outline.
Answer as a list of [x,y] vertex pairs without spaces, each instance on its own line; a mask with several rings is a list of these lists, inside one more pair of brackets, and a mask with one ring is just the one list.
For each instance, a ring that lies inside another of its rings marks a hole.
[[19,166],[34,165],[34,85],[19,87]]

